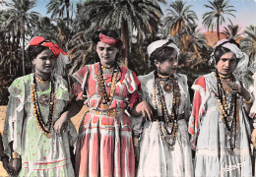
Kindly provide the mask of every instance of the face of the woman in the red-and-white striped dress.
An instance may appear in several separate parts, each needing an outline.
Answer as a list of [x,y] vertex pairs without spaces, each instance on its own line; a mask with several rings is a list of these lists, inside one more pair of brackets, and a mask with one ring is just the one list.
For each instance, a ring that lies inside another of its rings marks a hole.
[[101,65],[105,67],[111,67],[114,65],[117,52],[118,48],[102,41],[98,41],[96,44],[96,53]]

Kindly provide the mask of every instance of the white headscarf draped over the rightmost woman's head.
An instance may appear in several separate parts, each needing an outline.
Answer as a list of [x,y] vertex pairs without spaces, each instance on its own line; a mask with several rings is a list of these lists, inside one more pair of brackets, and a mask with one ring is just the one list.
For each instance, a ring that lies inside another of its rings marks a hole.
[[216,46],[214,47],[214,52],[211,54],[211,59],[209,60],[209,63],[215,63],[216,64],[216,59],[214,56],[215,50],[216,48],[221,45],[222,43],[224,43],[222,46],[224,48],[228,48],[231,52],[233,52],[233,54],[235,55],[235,57],[237,59],[239,59],[235,70],[233,71],[233,74],[236,75],[238,78],[242,78],[246,72],[247,72],[247,67],[248,67],[248,63],[249,63],[249,57],[246,53],[242,52],[237,45],[235,45],[234,43],[230,43],[228,42],[229,40],[224,38],[222,40],[219,40],[216,44]]

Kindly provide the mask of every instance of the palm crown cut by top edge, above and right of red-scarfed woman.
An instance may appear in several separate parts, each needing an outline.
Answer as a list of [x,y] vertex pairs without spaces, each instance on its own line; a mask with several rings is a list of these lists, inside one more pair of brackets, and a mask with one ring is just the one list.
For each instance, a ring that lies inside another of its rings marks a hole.
[[70,0],[52,0],[47,5],[47,14],[51,13],[51,18],[65,18],[66,13],[66,22],[69,26],[69,11],[70,11]]

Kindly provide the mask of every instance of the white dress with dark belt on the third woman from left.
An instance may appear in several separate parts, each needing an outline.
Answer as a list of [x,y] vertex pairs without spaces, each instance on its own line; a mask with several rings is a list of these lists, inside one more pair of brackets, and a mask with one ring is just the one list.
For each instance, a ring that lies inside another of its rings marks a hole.
[[[143,100],[149,101],[154,107],[154,72],[146,76],[138,77],[142,86]],[[189,117],[190,98],[185,75],[174,75],[177,80],[181,94],[179,114],[184,117],[178,120],[178,133],[173,149],[167,147],[160,137],[158,121],[146,121],[143,118],[133,118],[135,135],[141,134],[140,139],[140,161],[138,176],[193,176],[193,164],[191,147],[187,132],[187,119]],[[166,92],[163,89],[167,113],[172,110],[173,91]],[[160,102],[157,99],[158,114],[161,116]],[[155,107],[156,108],[156,107]],[[155,119],[155,118],[153,118]],[[156,118],[158,119],[158,118]],[[160,121],[162,124],[162,121]]]

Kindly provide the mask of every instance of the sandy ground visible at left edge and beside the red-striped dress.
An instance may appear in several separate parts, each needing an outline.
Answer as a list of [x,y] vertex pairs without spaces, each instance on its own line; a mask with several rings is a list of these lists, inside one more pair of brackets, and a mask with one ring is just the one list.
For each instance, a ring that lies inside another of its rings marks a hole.
[[[87,107],[84,106],[83,109],[80,111],[80,113],[71,119],[73,124],[76,126],[77,130],[78,130],[81,120],[83,118],[83,114],[86,111],[87,111]],[[1,132],[1,134],[3,133],[3,130],[4,130],[5,112],[6,112],[6,106],[0,106],[0,132]],[[8,176],[5,169],[3,168],[2,162],[0,162],[0,176]]]

